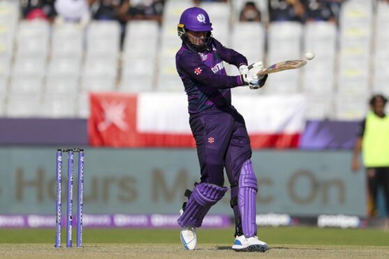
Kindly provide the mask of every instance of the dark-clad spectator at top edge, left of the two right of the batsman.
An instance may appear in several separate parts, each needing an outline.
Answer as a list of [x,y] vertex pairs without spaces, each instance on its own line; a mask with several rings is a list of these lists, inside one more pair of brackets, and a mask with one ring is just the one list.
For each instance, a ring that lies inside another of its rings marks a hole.
[[270,22],[303,22],[305,9],[300,0],[268,0]]

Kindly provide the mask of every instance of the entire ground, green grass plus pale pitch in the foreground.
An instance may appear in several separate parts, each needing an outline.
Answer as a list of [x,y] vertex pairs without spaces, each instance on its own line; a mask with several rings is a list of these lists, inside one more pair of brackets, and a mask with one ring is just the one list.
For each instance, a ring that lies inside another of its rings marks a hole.
[[[314,227],[259,228],[266,253],[236,253],[234,230],[199,229],[195,251],[185,251],[179,230],[88,229],[83,247],[55,249],[54,229],[0,229],[0,258],[389,258],[389,231]],[[75,236],[73,237],[75,244]]]

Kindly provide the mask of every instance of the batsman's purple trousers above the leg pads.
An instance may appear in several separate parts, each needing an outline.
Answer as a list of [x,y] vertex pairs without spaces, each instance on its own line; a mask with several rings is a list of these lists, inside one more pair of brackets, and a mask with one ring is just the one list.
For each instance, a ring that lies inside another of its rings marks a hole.
[[189,122],[196,140],[201,182],[223,186],[224,167],[230,184],[238,182],[243,163],[252,155],[243,116],[233,106],[211,107],[190,114]]

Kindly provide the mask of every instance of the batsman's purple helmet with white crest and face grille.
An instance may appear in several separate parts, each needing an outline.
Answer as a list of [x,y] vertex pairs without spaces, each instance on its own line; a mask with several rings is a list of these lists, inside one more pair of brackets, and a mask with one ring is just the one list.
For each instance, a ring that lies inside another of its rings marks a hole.
[[[183,11],[178,24],[178,36],[183,42],[197,52],[204,52],[208,49],[208,44],[211,42],[212,24],[209,20],[208,13],[204,9],[191,7]],[[204,45],[194,45],[188,38],[187,31],[208,31]]]

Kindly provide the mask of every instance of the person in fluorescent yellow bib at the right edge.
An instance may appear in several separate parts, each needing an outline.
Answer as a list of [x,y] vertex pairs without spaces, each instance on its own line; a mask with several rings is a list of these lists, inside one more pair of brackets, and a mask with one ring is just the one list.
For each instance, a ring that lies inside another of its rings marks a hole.
[[382,187],[386,200],[386,228],[389,229],[389,116],[385,114],[386,102],[388,100],[383,95],[374,95],[370,99],[371,111],[358,128],[351,169],[360,169],[358,158],[362,151],[367,171],[367,214],[369,217],[377,215],[376,201]]

